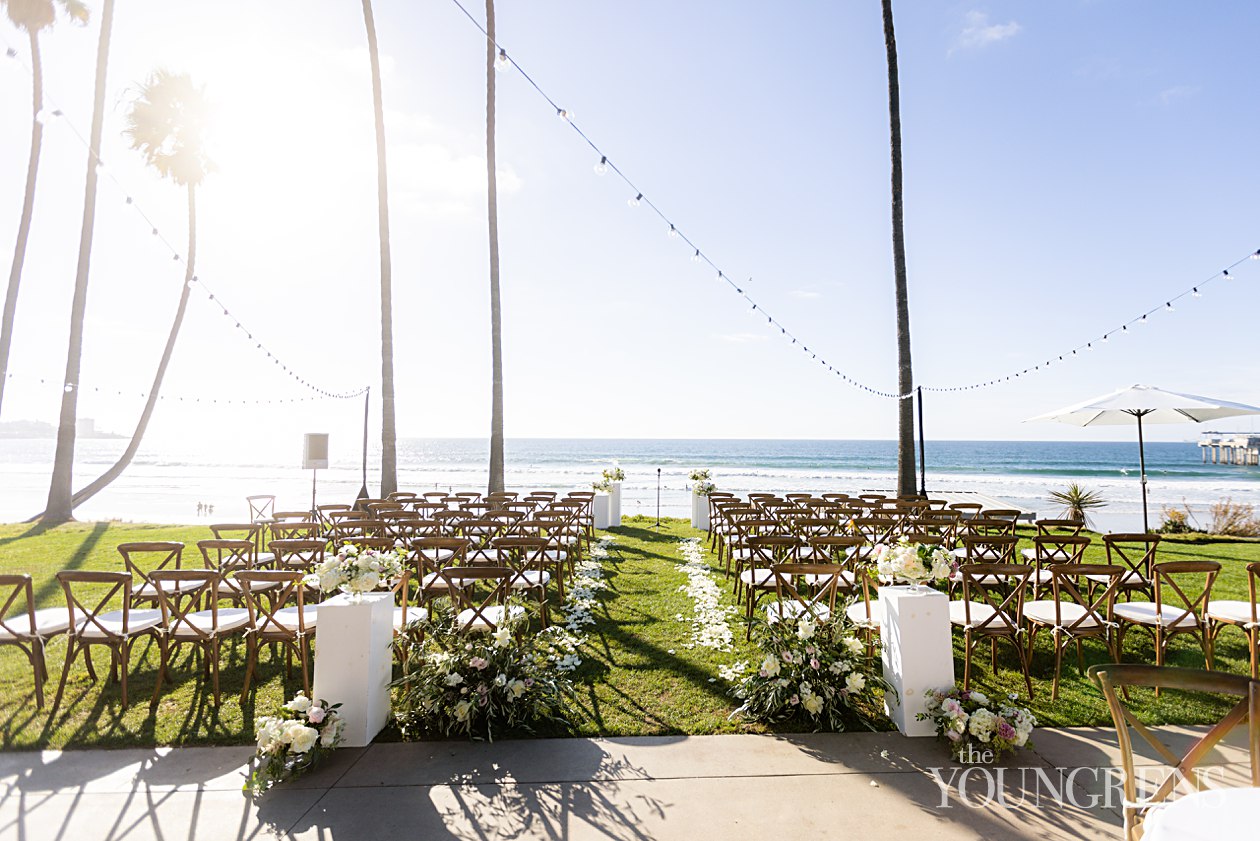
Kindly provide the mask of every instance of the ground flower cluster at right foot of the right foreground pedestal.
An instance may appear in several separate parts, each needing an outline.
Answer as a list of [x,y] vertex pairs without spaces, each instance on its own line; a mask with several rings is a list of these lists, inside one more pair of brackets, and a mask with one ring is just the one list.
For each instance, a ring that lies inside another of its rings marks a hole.
[[936,735],[949,743],[953,759],[988,764],[1029,745],[1037,719],[1028,709],[1016,706],[1016,700],[1017,695],[1008,695],[1008,704],[998,704],[984,692],[956,686],[927,690],[927,711],[920,712],[919,720],[936,724]]

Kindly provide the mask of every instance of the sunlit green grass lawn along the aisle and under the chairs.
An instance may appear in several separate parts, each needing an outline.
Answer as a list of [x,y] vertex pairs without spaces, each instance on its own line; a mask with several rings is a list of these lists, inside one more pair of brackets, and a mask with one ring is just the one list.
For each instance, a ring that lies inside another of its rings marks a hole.
[[[718,668],[737,659],[751,659],[756,652],[743,642],[742,614],[731,618],[735,644],[731,652],[687,648],[690,624],[677,619],[692,614],[692,601],[679,588],[687,577],[679,569],[678,541],[698,536],[683,521],[667,521],[658,531],[651,518],[627,518],[614,530],[616,543],[605,564],[605,590],[598,623],[587,630],[585,663],[575,673],[580,683],[585,717],[577,724],[581,735],[709,734],[759,731],[728,716],[735,701],[727,695]],[[1026,533],[1027,536],[1027,533]],[[29,526],[0,526],[0,571],[29,572],[34,577],[38,606],[64,604],[55,579],[62,569],[120,570],[115,547],[135,540],[180,540],[195,556],[195,541],[209,537],[198,526],[141,526],[130,523],[72,523],[49,531]],[[1101,560],[1101,541],[1091,546],[1086,560]],[[1244,567],[1260,560],[1260,543],[1187,536],[1167,538],[1160,560],[1211,559],[1223,565],[1217,579],[1216,598],[1246,598]],[[716,561],[708,561],[716,567]],[[721,579],[721,572],[718,571]],[[730,586],[721,581],[723,600],[733,605]],[[958,639],[958,638],[956,638]],[[57,688],[64,657],[64,643],[49,647],[52,680],[47,686],[49,704]],[[266,649],[265,649],[266,651]],[[156,648],[141,643],[132,657],[132,705],[120,711],[116,685],[93,683],[82,663],[71,672],[66,699],[54,717],[37,711],[34,683],[25,658],[13,647],[0,647],[0,738],[4,748],[125,746],[152,744],[242,744],[252,741],[255,707],[260,711],[284,700],[300,687],[286,681],[282,661],[265,653],[260,664],[260,683],[242,707],[239,688],[243,678],[243,644],[224,648],[223,702],[215,709],[203,691],[200,667],[190,654],[175,661],[175,686],[164,688],[156,710],[150,710]],[[1047,725],[1108,724],[1101,697],[1077,673],[1075,656],[1065,661],[1057,702],[1050,701],[1052,649],[1047,634],[1038,641],[1033,659],[1033,711]],[[963,673],[961,646],[955,644],[956,671]],[[1124,658],[1153,662],[1148,635],[1128,635]],[[100,657],[98,667],[100,667]],[[1086,664],[1105,662],[1105,649],[1086,643]],[[1189,638],[1173,643],[1171,663],[1202,667],[1202,656]],[[1217,647],[1218,668],[1245,673],[1246,643],[1239,632],[1227,630]],[[107,670],[106,670],[107,671]],[[976,661],[975,685],[985,691],[1018,691],[1023,680],[1009,649],[1002,649],[999,671],[990,672],[988,654]],[[1186,697],[1166,693],[1158,701],[1135,692],[1135,709],[1152,722],[1191,724],[1212,720],[1228,706],[1220,699]]]

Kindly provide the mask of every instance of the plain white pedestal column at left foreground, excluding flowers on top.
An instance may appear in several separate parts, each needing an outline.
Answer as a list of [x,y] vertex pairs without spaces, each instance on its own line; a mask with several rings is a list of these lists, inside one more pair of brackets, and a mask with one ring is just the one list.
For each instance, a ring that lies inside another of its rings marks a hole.
[[335,595],[319,605],[314,692],[340,701],[346,748],[370,744],[389,719],[393,609],[388,593],[365,594],[359,604]]

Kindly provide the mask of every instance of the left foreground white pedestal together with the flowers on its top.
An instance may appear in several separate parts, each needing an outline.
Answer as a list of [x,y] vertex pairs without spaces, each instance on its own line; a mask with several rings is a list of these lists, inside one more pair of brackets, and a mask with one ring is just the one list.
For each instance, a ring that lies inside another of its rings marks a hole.
[[402,575],[393,551],[346,546],[307,577],[324,593],[315,633],[315,699],[340,704],[343,745],[372,743],[389,720],[393,667],[393,594],[377,591]]

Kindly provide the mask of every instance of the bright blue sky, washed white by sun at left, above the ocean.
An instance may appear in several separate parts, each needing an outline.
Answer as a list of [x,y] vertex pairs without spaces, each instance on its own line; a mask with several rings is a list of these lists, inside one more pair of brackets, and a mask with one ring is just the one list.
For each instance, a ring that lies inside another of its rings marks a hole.
[[[97,10],[98,4],[92,4]],[[648,198],[834,367],[895,383],[887,91],[879,6],[501,0],[499,39]],[[481,16],[484,9],[471,5]],[[389,135],[398,422],[484,435],[489,417],[484,40],[449,0],[378,0]],[[1245,3],[896,5],[916,378],[950,386],[1056,358],[1260,247],[1260,57]],[[242,20],[247,20],[242,25]],[[29,77],[0,64],[0,243],[25,177]],[[48,34],[48,92],[86,131],[96,21]],[[374,383],[374,158],[353,3],[120,4],[83,414],[130,430],[181,279],[122,203],[181,243],[183,197],[120,137],[136,81],[189,71],[218,102],[198,274],[295,368]],[[891,438],[891,402],[782,340],[514,71],[499,74],[509,436]],[[82,146],[45,134],[5,420],[55,416]],[[183,250],[183,246],[179,246]],[[1260,262],[1097,352],[1000,387],[930,396],[941,439],[1123,439],[1024,417],[1131,382],[1260,403]],[[752,279],[747,282],[747,279]],[[205,300],[165,392],[301,396]],[[325,427],[349,403],[165,401],[155,440]],[[375,424],[373,424],[375,425]],[[1220,425],[1220,424],[1218,424]],[[1225,422],[1250,429],[1251,421]],[[1184,439],[1193,427],[1152,430]]]

